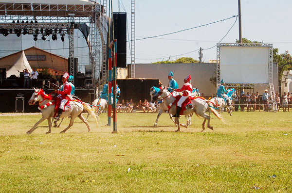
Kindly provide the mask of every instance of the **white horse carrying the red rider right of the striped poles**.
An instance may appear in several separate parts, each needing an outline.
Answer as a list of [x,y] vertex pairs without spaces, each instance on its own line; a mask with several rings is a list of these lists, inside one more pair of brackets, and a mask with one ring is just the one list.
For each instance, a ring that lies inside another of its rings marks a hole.
[[[168,105],[170,103],[174,103],[174,101],[176,100],[176,98],[174,96],[171,95],[171,93],[169,91],[167,91],[167,89],[165,89],[164,86],[161,87],[161,90],[158,91],[152,98],[151,100],[152,101],[156,101],[160,98],[164,98],[164,104],[161,105],[161,108],[164,109],[165,111],[168,110]],[[204,121],[202,123],[202,130],[205,130],[205,123],[206,123],[206,120],[208,120],[208,125],[207,127],[209,129],[212,129],[213,130],[213,127],[210,126],[210,114],[206,114],[206,111],[209,109],[213,114],[215,114],[215,116],[223,121],[223,118],[221,117],[221,115],[219,113],[217,113],[214,109],[212,108],[209,108],[209,101],[200,97],[200,96],[196,96],[194,97],[194,99],[192,100],[192,104],[193,104],[193,107],[190,108],[190,109],[187,109],[187,110],[184,110],[183,111],[183,114],[186,115],[186,114],[191,114],[191,113],[195,113],[198,117],[203,117],[204,118]],[[175,115],[176,114],[176,105],[172,105],[169,109],[169,113],[171,113],[172,115]],[[181,131],[181,128],[180,128],[180,119],[179,117],[176,117],[175,118],[175,122],[178,126],[178,129],[176,131]]]

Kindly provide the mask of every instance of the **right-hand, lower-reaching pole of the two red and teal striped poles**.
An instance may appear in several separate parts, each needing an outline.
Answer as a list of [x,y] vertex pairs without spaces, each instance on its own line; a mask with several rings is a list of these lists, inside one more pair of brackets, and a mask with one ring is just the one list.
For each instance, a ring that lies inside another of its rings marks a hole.
[[114,40],[113,44],[113,132],[117,132],[117,40]]

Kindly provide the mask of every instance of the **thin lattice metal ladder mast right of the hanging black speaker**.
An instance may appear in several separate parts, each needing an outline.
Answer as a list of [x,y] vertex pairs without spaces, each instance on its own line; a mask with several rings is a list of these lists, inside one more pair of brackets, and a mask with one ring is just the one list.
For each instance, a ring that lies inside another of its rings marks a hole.
[[131,74],[135,78],[135,0],[131,0]]

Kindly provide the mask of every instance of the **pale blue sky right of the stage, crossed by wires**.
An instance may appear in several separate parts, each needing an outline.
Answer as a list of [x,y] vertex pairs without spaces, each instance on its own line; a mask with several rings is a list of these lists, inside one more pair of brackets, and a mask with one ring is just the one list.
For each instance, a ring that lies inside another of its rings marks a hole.
[[[121,0],[128,15],[130,30],[130,2]],[[118,11],[118,0],[113,0]],[[242,36],[253,41],[272,43],[279,53],[292,50],[291,0],[241,0]],[[120,6],[120,12],[124,12]],[[135,39],[200,26],[233,15],[238,15],[238,0],[136,0]],[[210,48],[228,32],[236,18],[216,24],[188,30],[159,38],[137,40],[136,64],[171,60],[180,57],[198,59],[198,51],[173,57],[201,48]],[[238,19],[222,43],[235,42],[238,35]],[[127,47],[128,44],[127,44]],[[127,63],[130,63],[129,49]],[[203,50],[202,61],[216,60],[216,47]]]

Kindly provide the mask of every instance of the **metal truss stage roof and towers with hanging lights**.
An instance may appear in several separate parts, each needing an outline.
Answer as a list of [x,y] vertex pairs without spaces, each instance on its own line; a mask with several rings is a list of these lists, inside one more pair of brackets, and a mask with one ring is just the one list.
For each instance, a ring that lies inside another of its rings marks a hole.
[[[9,0],[7,0],[9,1]],[[32,1],[36,2],[36,1]],[[87,23],[90,26],[89,50],[92,66],[92,84],[94,93],[98,85],[106,82],[106,39],[107,36],[107,0],[96,2],[78,1],[79,4],[0,2],[0,31],[3,35],[14,34],[68,34],[70,73],[75,76],[74,69],[74,36],[75,24]],[[43,3],[44,2],[44,3]],[[56,0],[54,1],[56,2]],[[66,1],[70,2],[70,1]],[[77,2],[76,0],[73,2]]]

